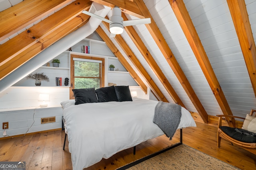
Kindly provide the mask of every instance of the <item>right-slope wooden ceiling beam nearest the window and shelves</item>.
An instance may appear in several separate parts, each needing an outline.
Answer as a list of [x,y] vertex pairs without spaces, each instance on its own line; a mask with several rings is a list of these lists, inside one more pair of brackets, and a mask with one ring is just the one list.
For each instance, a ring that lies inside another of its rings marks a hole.
[[98,33],[98,35],[100,35],[100,37],[103,39],[103,41],[105,41],[106,45],[108,46],[108,48],[114,53],[114,55],[118,58],[118,60],[120,61],[120,63],[124,66],[124,68],[126,68],[126,70],[128,70],[128,72],[130,73],[130,75],[132,76],[132,78],[135,80],[135,82],[142,88],[142,90],[144,91],[145,94],[148,93],[148,87],[144,84],[144,82],[140,79],[140,77],[138,76],[138,74],[134,71],[134,69],[132,68],[132,66],[130,66],[130,64],[126,61],[126,59],[124,58],[124,56],[120,53],[120,51],[116,48],[116,46],[114,45],[114,43],[111,41],[111,39],[108,37],[108,35],[106,35],[106,33],[104,32],[104,30],[101,27],[98,27],[96,29],[96,32]]

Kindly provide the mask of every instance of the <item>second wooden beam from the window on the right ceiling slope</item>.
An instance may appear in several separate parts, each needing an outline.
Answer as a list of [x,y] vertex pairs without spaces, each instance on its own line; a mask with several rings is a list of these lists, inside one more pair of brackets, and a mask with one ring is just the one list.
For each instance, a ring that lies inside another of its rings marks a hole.
[[[103,25],[108,28],[109,30],[109,24],[102,22]],[[127,45],[127,43],[124,41],[122,36],[116,35],[114,37],[116,42],[119,44],[119,46],[123,49],[124,53],[129,57],[130,61],[134,64],[134,66],[137,68],[137,70],[140,72],[140,74],[144,77],[144,79],[148,82],[148,85],[152,90],[155,92],[155,94],[158,96],[158,98],[163,102],[168,102],[164,94],[161,92],[161,90],[158,88],[154,80],[151,78],[151,76],[148,74],[147,70],[144,68],[144,66],[140,63],[138,58],[135,56],[135,54],[132,52],[130,47]]]

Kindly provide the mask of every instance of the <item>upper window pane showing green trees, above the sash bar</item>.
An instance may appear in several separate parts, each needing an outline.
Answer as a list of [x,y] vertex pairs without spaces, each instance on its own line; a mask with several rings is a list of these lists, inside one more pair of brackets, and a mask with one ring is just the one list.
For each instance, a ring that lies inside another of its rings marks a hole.
[[74,74],[80,77],[100,77],[100,63],[74,61]]

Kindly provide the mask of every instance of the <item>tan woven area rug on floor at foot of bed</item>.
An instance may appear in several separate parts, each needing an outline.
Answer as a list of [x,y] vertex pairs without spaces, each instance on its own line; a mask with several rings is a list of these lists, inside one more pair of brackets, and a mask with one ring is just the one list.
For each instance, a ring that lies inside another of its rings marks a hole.
[[187,145],[180,145],[128,170],[240,170]]

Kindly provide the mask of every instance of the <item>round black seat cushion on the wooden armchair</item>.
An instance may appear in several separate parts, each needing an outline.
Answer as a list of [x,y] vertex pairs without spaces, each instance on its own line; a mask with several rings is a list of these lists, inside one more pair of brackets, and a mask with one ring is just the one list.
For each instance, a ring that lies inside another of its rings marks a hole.
[[246,130],[228,126],[222,126],[220,127],[220,129],[224,131],[224,133],[226,133],[228,136],[238,141],[245,143],[256,143],[256,137],[254,137],[254,135],[252,135],[252,132],[250,131],[244,133]]

